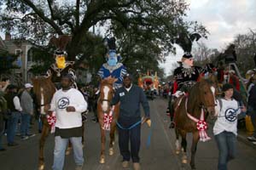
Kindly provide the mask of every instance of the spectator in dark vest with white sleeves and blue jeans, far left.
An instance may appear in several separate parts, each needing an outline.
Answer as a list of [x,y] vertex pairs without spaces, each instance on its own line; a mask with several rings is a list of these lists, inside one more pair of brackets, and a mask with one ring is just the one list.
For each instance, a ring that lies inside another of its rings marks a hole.
[[15,130],[18,120],[20,119],[20,112],[22,111],[22,108],[20,106],[20,99],[17,94],[18,88],[15,85],[10,84],[8,89],[9,91],[5,95],[10,113],[7,126],[7,142],[9,146],[15,146],[18,145],[15,143]]

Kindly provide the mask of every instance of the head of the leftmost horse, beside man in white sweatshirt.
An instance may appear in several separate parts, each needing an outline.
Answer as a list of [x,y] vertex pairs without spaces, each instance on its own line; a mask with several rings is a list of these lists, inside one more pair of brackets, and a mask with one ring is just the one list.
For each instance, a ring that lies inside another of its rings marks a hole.
[[44,106],[49,105],[53,94],[55,94],[55,85],[50,77],[32,77],[33,92],[36,94],[40,113],[45,114]]

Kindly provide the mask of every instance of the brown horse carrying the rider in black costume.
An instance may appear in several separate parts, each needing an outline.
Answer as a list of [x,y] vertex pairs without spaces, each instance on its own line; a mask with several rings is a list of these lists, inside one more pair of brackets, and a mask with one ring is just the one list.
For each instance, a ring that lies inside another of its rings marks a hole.
[[[200,82],[196,82],[195,86],[189,91],[189,95],[179,97],[175,103],[175,117],[176,122],[176,153],[179,154],[179,135],[182,136],[183,147],[183,163],[187,163],[187,133],[193,133],[193,142],[191,146],[191,161],[190,166],[195,169],[195,152],[197,143],[200,139],[200,131],[197,129],[197,122],[191,119],[191,116],[197,120],[201,120],[201,115],[204,115],[207,119],[208,113],[211,116],[215,113],[215,88],[214,84],[210,80],[201,79]],[[206,114],[205,114],[206,113]],[[190,117],[189,117],[190,116]]]

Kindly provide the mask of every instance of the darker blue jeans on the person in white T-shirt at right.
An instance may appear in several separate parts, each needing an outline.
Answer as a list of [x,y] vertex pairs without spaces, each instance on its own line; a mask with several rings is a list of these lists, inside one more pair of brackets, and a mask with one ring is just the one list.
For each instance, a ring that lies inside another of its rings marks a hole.
[[218,170],[227,170],[228,161],[236,156],[236,134],[222,132],[215,135],[218,145]]

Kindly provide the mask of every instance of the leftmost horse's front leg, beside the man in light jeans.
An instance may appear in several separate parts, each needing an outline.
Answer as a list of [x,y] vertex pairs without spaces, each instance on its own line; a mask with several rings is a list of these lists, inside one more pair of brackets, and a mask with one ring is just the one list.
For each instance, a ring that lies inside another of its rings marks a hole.
[[49,125],[47,123],[46,117],[42,117],[42,122],[43,122],[43,129],[41,133],[41,138],[39,141],[39,165],[38,169],[39,170],[44,170],[44,144],[45,140],[47,139],[49,135]]

